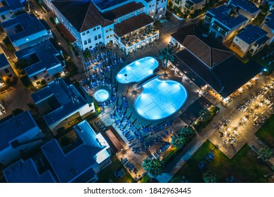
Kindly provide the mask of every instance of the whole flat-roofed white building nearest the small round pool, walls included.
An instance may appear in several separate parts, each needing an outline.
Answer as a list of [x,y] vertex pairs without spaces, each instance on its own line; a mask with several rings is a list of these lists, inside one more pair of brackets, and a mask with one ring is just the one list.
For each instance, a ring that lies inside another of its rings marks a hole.
[[77,118],[95,112],[94,103],[86,92],[77,89],[70,80],[58,78],[47,87],[32,94],[34,104],[44,115],[44,120],[53,134],[60,127],[70,127]]

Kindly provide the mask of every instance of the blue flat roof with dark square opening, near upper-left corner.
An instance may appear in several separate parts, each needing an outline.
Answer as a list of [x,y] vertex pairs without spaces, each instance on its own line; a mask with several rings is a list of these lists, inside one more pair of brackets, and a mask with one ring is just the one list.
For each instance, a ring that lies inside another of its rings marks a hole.
[[28,13],[16,15],[15,18],[1,23],[1,25],[8,35],[8,38],[11,39],[11,42],[46,30],[34,15]]

